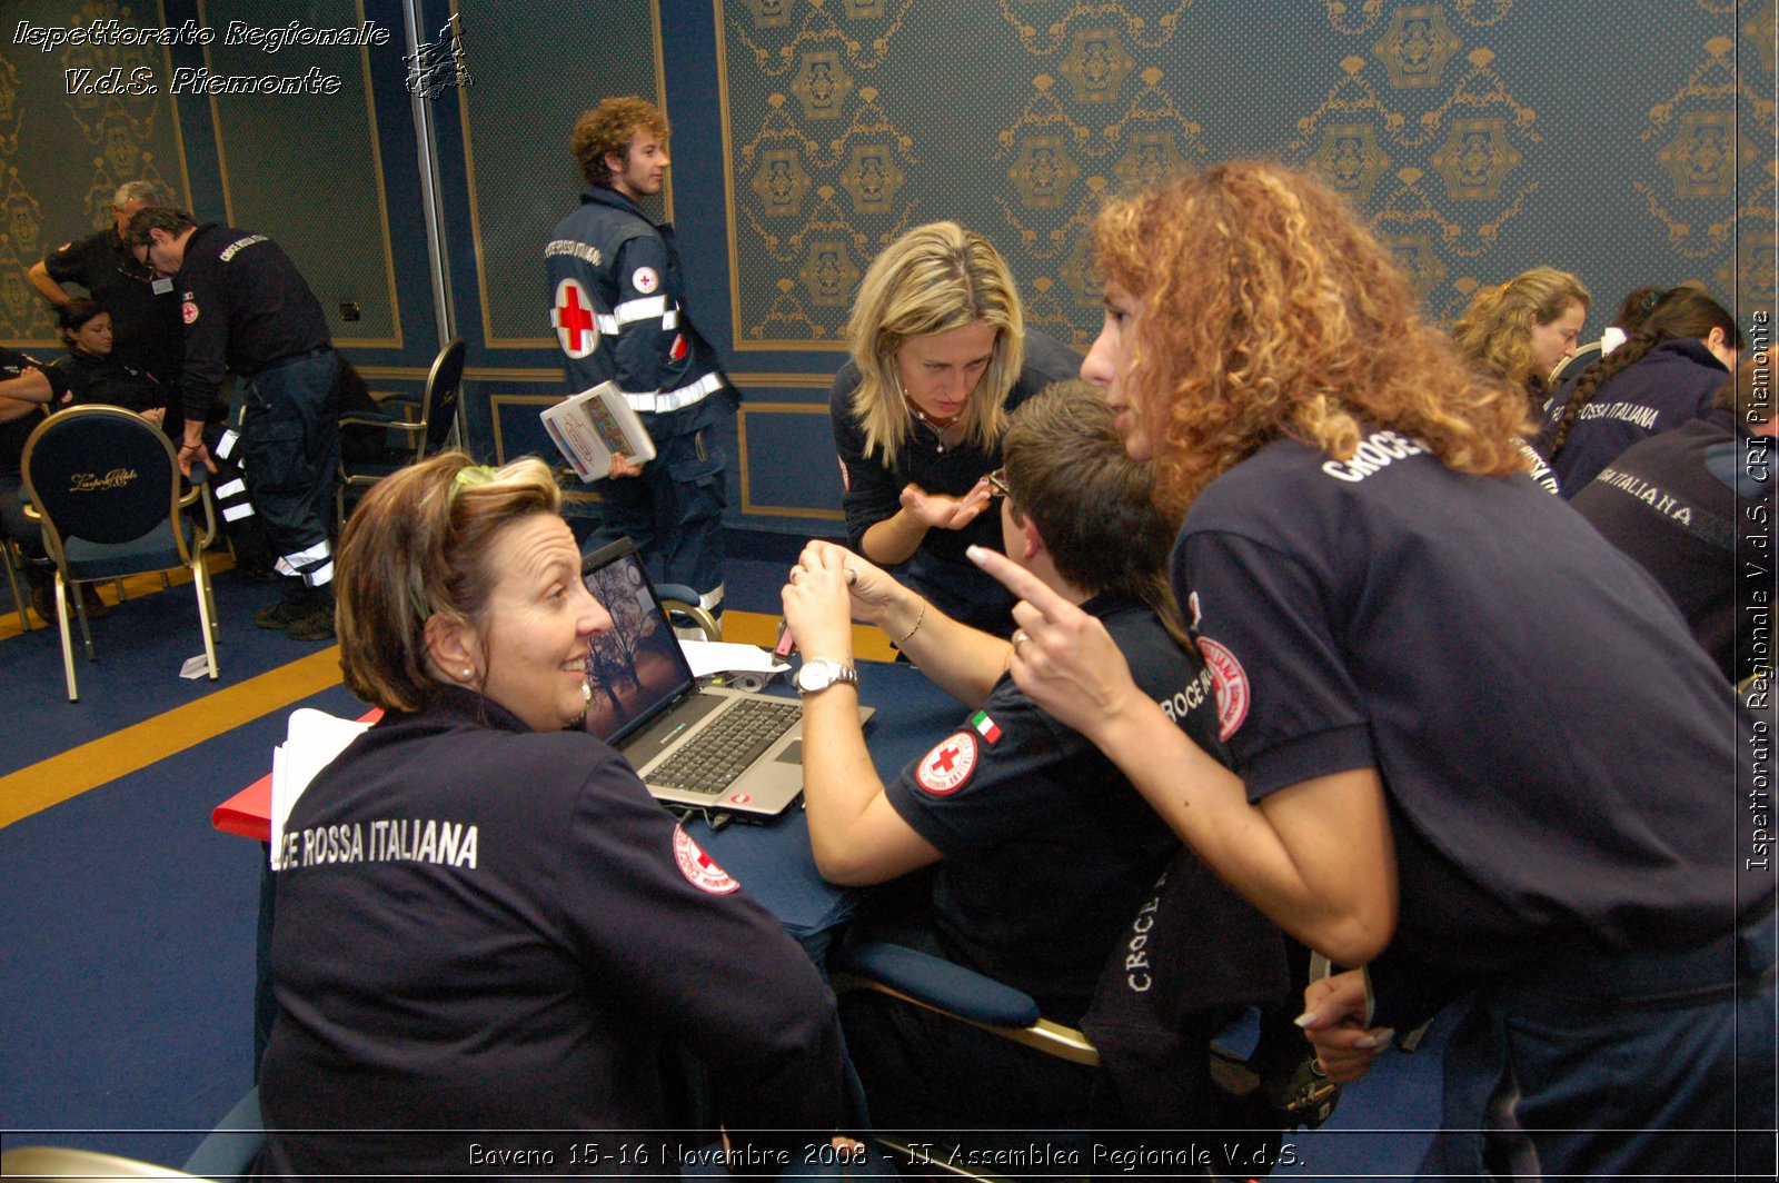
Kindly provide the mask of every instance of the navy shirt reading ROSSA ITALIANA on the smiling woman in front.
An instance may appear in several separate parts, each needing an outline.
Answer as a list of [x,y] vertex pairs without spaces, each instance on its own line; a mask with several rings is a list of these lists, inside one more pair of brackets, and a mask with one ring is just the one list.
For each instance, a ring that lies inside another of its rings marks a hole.
[[589,1172],[569,1144],[669,1124],[667,1039],[731,1130],[840,1121],[815,964],[596,736],[450,688],[354,740],[285,838],[263,1171],[475,1174],[480,1144]]

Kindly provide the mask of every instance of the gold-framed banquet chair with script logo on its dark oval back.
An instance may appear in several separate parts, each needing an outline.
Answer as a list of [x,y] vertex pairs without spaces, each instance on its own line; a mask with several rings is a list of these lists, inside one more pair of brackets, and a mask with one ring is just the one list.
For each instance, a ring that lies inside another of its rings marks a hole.
[[[30,500],[25,516],[43,523],[43,548],[55,564],[55,616],[68,701],[80,701],[68,621],[69,587],[173,567],[192,575],[205,660],[213,681],[215,594],[203,551],[217,535],[217,519],[205,484],[208,471],[196,466],[194,484],[181,495],[180,463],[162,431],[135,411],[100,404],[71,407],[39,423],[25,441],[21,466]],[[199,503],[201,530],[185,514]],[[87,660],[98,660],[78,596],[73,596],[73,608]]]

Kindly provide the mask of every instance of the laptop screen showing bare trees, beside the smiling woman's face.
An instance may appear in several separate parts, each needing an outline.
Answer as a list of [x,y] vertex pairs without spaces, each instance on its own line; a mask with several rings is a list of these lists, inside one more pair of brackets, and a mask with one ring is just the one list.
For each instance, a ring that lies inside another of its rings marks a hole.
[[692,688],[692,667],[628,539],[587,555],[580,576],[612,614],[612,630],[592,639],[587,656],[587,731],[616,745]]

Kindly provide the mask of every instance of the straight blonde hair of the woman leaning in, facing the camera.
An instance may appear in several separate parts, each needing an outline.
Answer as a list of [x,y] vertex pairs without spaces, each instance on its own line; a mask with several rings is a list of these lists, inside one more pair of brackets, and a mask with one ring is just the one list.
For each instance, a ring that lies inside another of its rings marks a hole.
[[847,347],[859,368],[852,414],[865,427],[866,455],[895,464],[914,432],[897,350],[909,338],[977,320],[994,327],[994,354],[964,402],[964,438],[993,448],[1007,431],[1007,395],[1025,365],[1025,317],[1007,262],[994,244],[957,222],[916,226],[872,260],[847,320]]

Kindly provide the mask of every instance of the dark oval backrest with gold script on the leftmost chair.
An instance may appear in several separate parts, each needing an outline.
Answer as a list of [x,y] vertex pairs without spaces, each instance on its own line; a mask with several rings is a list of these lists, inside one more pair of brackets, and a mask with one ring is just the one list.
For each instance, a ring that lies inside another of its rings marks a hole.
[[180,512],[173,443],[123,407],[52,414],[25,441],[23,468],[52,553],[69,537],[128,543]]

